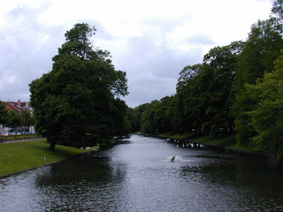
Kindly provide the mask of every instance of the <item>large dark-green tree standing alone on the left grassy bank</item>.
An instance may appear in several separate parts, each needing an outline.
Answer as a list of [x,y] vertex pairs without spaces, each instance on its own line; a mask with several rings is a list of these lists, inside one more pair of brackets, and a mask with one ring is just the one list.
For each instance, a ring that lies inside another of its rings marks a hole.
[[76,24],[53,57],[49,73],[30,84],[35,129],[50,142],[86,147],[126,130],[126,72],[116,71],[110,53],[95,49],[95,27]]

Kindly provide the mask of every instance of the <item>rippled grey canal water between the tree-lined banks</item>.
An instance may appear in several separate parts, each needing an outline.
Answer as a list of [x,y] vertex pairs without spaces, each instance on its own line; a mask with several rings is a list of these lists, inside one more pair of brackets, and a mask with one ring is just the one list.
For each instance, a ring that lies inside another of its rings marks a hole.
[[270,159],[177,144],[133,135],[2,178],[0,211],[283,211],[283,173]]

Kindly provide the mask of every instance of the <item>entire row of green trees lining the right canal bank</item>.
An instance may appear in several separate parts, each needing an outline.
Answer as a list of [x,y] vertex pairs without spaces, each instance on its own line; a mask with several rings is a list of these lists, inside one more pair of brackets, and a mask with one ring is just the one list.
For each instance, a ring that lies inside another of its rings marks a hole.
[[[236,132],[237,142],[283,155],[283,1],[246,42],[210,49],[180,72],[176,94],[131,110],[143,133]],[[281,159],[280,159],[281,160]]]

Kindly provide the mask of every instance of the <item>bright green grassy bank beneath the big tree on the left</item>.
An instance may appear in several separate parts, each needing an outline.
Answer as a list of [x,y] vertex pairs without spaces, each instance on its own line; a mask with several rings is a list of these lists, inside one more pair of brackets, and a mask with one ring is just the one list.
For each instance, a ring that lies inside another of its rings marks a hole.
[[57,145],[56,151],[52,152],[48,147],[49,144],[45,140],[0,144],[0,176],[56,162],[87,151]]

